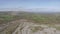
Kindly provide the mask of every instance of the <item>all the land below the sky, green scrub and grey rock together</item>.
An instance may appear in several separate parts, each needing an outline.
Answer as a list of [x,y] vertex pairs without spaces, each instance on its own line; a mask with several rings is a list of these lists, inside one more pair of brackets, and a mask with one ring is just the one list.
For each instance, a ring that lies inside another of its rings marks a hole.
[[0,34],[60,34],[60,13],[0,12]]

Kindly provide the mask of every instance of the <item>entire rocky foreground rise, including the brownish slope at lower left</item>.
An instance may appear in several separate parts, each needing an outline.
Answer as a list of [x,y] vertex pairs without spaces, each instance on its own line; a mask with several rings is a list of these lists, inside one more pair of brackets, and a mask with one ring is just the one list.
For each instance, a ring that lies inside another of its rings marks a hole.
[[[13,21],[3,27],[0,26],[0,34],[60,34],[60,30],[55,28],[58,26],[60,27],[59,24],[55,24],[54,27],[51,27],[51,25],[36,24],[32,21],[21,19]],[[5,29],[6,27],[8,28]]]

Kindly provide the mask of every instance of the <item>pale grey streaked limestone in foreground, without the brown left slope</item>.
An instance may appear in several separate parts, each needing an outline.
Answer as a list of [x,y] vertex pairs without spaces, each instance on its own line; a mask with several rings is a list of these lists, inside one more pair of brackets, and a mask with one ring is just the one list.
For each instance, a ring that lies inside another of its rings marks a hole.
[[21,20],[21,25],[12,34],[60,34],[60,30],[48,25]]

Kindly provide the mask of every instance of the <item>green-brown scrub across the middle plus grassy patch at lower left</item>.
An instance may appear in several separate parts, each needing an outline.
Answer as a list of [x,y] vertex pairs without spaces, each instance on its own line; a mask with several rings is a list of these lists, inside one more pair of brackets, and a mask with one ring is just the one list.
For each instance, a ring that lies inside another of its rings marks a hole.
[[[34,21],[34,23],[38,24],[49,24],[50,26],[54,24],[60,24],[60,13],[33,13],[33,12],[18,12],[16,15],[12,15],[12,12],[1,12],[0,13],[0,25],[7,24],[11,21],[18,19],[27,19],[28,21]],[[14,13],[14,12],[13,12]],[[18,23],[19,24],[19,23]],[[12,30],[16,29],[18,25],[14,24],[5,31],[11,33]],[[55,27],[60,29],[60,27]]]

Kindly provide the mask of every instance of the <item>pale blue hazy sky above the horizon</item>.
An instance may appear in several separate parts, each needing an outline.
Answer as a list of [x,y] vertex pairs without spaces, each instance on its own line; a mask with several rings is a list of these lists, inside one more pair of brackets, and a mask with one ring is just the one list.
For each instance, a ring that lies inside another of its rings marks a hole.
[[60,11],[60,0],[0,0],[0,10],[12,8]]

